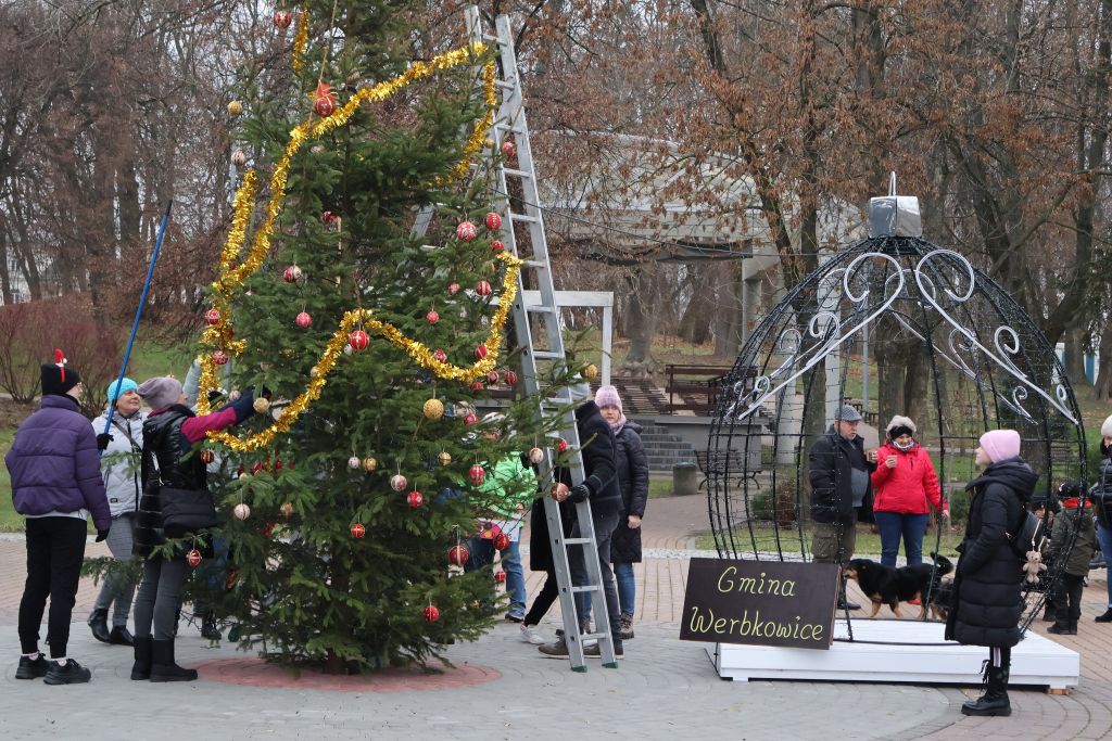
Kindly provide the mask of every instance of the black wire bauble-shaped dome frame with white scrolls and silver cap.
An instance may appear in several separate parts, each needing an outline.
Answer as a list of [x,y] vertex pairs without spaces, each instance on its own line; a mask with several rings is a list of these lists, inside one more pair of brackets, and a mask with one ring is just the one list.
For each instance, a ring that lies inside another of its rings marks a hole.
[[[1063,480],[1084,482],[1081,414],[1053,348],[1000,284],[922,239],[917,200],[894,196],[894,179],[892,190],[870,203],[870,238],[794,287],[725,380],[707,451],[711,524],[723,558],[811,560],[807,450],[838,405],[871,395],[862,394],[876,367],[870,334],[925,354],[926,412],[916,422],[955,508],[977,438],[990,429],[1019,430],[1023,457],[1041,477],[1039,493],[1050,495]],[[867,411],[871,399],[860,405]],[[924,553],[939,550],[941,530]],[[1024,629],[1043,597],[1027,594]]]

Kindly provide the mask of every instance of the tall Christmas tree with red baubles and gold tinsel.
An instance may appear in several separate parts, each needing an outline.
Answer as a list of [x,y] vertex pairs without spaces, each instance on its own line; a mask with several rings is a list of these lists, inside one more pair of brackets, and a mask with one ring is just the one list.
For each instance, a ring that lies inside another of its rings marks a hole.
[[492,572],[455,573],[453,549],[536,495],[483,483],[549,432],[520,394],[481,411],[517,382],[493,50],[461,33],[425,49],[404,4],[275,12],[292,73],[229,104],[241,182],[201,340],[200,412],[229,367],[266,398],[200,453],[236,473],[211,482],[230,551],[198,597],[245,645],[332,672],[425,661],[489,627]]

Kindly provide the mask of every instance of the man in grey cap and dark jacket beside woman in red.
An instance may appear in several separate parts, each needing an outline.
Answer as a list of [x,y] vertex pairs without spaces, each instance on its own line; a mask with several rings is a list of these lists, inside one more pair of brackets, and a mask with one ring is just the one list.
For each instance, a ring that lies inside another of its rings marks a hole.
[[[857,541],[857,508],[872,489],[870,474],[876,470],[876,451],[865,453],[865,443],[857,434],[861,412],[842,404],[834,424],[815,444],[807,457],[811,469],[811,519],[814,534],[811,552],[820,563],[841,567],[853,558]],[[861,605],[846,602],[845,583],[838,595],[840,610],[857,610]]]

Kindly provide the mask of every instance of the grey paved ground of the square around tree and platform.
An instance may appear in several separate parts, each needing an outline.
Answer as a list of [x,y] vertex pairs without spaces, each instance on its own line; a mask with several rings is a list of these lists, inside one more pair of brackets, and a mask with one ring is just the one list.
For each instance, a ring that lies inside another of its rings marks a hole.
[[[1080,651],[1083,679],[1070,695],[1013,691],[1006,719],[959,713],[973,690],[813,683],[724,682],[705,647],[678,633],[693,534],[704,529],[702,497],[653,500],[645,521],[648,558],[636,569],[636,639],[618,670],[593,664],[585,674],[542,658],[499,624],[475,643],[449,647],[456,672],[405,681],[354,680],[338,689],[308,675],[295,689],[227,683],[251,661],[228,645],[211,648],[183,625],[182,663],[198,665],[188,684],[130,682],[130,652],[97,643],[83,624],[96,594],[82,582],[71,653],[93,670],[88,685],[51,688],[14,679],[14,660],[0,679],[0,738],[116,739],[176,733],[221,739],[1102,739],[1112,735],[1112,625],[1092,617],[1105,605],[1105,573],[1091,574],[1081,633],[1061,642]],[[686,551],[686,552],[685,552]],[[23,543],[0,537],[0,643],[18,644]],[[107,553],[90,543],[90,554]],[[540,575],[529,575],[530,593]],[[543,629],[558,625],[558,610]],[[1045,623],[1037,623],[1043,631]],[[16,650],[10,655],[14,659]],[[239,660],[239,661],[236,661]],[[470,677],[465,683],[455,679]],[[476,679],[477,678],[477,679]],[[358,683],[356,683],[358,682]],[[61,695],[61,697],[59,697]],[[584,737],[589,733],[590,737]]]

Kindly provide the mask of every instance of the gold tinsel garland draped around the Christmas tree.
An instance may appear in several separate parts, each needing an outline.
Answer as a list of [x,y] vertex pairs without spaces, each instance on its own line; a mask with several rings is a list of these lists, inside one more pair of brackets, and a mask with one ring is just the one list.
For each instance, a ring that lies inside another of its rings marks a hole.
[[[298,19],[298,38],[301,36],[302,27],[306,29],[307,34],[307,24],[302,24],[305,16],[306,13],[302,12]],[[304,53],[304,44],[299,46],[297,39],[295,39],[295,64],[298,62],[298,49],[301,49],[301,52]],[[393,80],[380,82],[371,88],[358,90],[348,100],[348,102],[332,113],[332,116],[321,119],[316,123],[314,123],[312,119],[310,119],[309,121],[295,127],[294,130],[290,131],[290,139],[286,146],[286,150],[284,151],[282,157],[278,160],[278,163],[275,166],[275,170],[270,177],[270,200],[267,204],[266,218],[256,231],[255,239],[252,240],[247,254],[244,256],[244,260],[239,264],[236,264],[236,259],[240,257],[244,244],[247,240],[248,222],[251,217],[255,194],[258,189],[258,176],[255,170],[248,170],[247,173],[245,173],[244,182],[236,192],[231,229],[229,230],[228,239],[225,242],[225,247],[220,256],[220,274],[212,283],[215,293],[214,308],[220,312],[220,317],[215,324],[209,326],[205,330],[201,337],[203,343],[209,347],[221,348],[229,354],[234,356],[240,354],[247,347],[247,342],[245,340],[231,339],[231,331],[228,324],[231,309],[231,293],[236,289],[240,288],[244,281],[257,272],[262,266],[262,261],[270,249],[270,237],[274,232],[275,223],[278,220],[278,216],[281,213],[281,200],[285,196],[290,162],[305,142],[309,139],[319,138],[329,131],[345,126],[364,101],[385,100],[414,81],[428,77],[435,71],[456,67],[457,64],[471,59],[473,54],[479,56],[485,51],[486,46],[476,42],[469,47],[439,54],[427,63],[415,62],[408,70],[406,70],[406,72],[397,78],[394,78]],[[483,120],[476,126],[471,137],[465,146],[464,158],[448,176],[436,179],[436,181],[434,181],[436,184],[443,184],[444,182],[465,176],[467,173],[470,159],[481,149],[486,141],[486,133],[494,122],[494,111],[497,107],[495,67],[493,62],[484,64],[483,81],[484,100],[487,109],[486,113]],[[344,346],[347,344],[348,337],[357,323],[361,323],[368,329],[386,338],[393,344],[401,348],[418,366],[431,371],[440,378],[468,382],[494,370],[497,363],[498,350],[502,346],[503,331],[505,329],[507,317],[509,316],[509,308],[513,304],[517,292],[517,277],[522,264],[520,260],[505,252],[498,253],[495,257],[506,263],[506,274],[503,280],[503,291],[498,311],[495,312],[495,317],[490,322],[490,332],[485,341],[487,348],[486,358],[480,359],[473,366],[453,366],[450,363],[443,363],[433,357],[433,351],[429,350],[424,343],[407,338],[400,330],[388,322],[381,322],[374,319],[370,310],[355,309],[344,314],[344,318],[340,320],[339,328],[332,334],[332,338],[326,346],[325,351],[314,364],[315,372],[311,374],[311,379],[306,387],[306,390],[285,407],[285,410],[278,420],[265,430],[248,435],[245,439],[239,439],[227,432],[210,432],[209,438],[221,442],[238,452],[246,452],[265,448],[270,444],[275,435],[288,432],[300,413],[305,411],[312,401],[320,398],[320,393],[327,381],[327,375],[336,364],[336,360],[339,358],[339,354],[344,351]],[[198,393],[197,403],[198,412],[201,414],[210,412],[208,392],[219,385],[216,368],[217,363],[212,359],[211,353],[202,357],[200,392]]]

